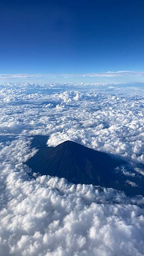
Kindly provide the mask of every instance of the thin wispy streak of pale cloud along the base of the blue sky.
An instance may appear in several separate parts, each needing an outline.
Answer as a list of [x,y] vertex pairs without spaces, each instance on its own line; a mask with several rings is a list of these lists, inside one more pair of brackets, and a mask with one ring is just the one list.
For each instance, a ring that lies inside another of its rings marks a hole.
[[77,74],[0,74],[0,79],[28,79],[28,78],[69,78],[69,77],[132,77],[144,76],[144,71],[120,70],[101,73],[77,73]]

